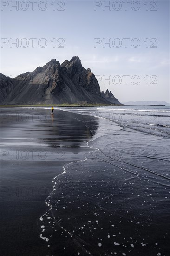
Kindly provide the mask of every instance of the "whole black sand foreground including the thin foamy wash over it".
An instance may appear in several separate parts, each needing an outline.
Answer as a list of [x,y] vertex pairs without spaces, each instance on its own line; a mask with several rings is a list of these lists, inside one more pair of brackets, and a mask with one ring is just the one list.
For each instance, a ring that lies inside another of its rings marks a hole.
[[168,145],[94,115],[2,108],[1,255],[167,256]]

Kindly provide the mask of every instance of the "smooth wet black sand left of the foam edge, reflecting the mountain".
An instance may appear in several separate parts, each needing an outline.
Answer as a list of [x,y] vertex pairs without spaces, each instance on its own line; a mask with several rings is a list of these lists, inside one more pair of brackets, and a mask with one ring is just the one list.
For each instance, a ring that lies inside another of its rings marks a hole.
[[89,151],[98,122],[91,118],[87,128],[82,121],[62,111],[1,109],[1,255],[48,255],[38,220],[53,177]]

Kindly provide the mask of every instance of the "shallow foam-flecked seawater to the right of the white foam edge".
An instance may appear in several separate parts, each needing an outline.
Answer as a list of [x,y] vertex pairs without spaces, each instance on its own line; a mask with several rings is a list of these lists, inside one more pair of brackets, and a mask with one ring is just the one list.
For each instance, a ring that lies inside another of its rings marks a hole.
[[53,255],[56,250],[59,255],[168,255],[168,110],[148,111],[147,118],[157,111],[162,117],[157,122],[167,125],[154,130],[144,122],[144,109],[138,122],[113,120],[112,109],[97,110],[69,109],[98,116],[100,126],[87,143],[93,151],[53,179],[40,236]]

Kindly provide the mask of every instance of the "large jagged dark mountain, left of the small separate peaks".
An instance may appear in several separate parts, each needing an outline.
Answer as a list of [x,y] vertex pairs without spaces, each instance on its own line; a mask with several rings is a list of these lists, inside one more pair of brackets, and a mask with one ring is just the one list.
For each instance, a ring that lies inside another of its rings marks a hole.
[[13,79],[0,73],[1,105],[83,102],[111,104],[102,97],[95,75],[82,66],[78,56],[62,64],[53,59]]

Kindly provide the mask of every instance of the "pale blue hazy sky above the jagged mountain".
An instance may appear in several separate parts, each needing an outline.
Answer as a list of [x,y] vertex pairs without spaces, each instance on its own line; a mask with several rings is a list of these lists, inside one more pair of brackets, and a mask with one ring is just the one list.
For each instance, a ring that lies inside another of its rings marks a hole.
[[169,0],[0,4],[0,72],[6,76],[78,55],[101,90],[120,102],[170,102]]

